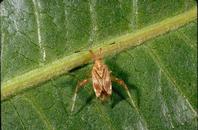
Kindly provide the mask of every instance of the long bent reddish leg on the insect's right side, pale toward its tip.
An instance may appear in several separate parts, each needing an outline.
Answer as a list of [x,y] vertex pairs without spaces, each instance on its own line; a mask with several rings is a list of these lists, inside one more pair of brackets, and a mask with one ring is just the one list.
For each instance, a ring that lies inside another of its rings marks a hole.
[[131,97],[131,94],[130,94],[130,92],[129,92],[129,89],[128,89],[127,85],[125,84],[125,82],[124,82],[123,80],[121,80],[121,79],[118,79],[117,77],[114,77],[114,76],[111,76],[111,81],[114,81],[114,82],[118,83],[119,85],[121,85],[121,86],[125,89],[127,95],[128,95],[129,98],[130,98],[130,101],[131,101],[133,107],[134,107],[135,109],[137,109],[137,108],[136,108],[136,105],[135,105],[135,103],[134,103],[134,101],[133,101],[133,99],[132,99],[132,97]]

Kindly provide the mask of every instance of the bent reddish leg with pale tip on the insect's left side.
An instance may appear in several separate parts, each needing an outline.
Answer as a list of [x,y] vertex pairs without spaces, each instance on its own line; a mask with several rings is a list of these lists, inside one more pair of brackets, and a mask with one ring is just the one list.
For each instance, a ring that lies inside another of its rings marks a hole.
[[76,102],[76,97],[77,97],[77,93],[80,90],[80,88],[84,87],[87,83],[89,82],[89,79],[84,79],[81,82],[78,82],[76,89],[75,89],[75,93],[72,99],[72,108],[71,108],[71,112],[74,110],[74,106],[75,106],[75,102]]

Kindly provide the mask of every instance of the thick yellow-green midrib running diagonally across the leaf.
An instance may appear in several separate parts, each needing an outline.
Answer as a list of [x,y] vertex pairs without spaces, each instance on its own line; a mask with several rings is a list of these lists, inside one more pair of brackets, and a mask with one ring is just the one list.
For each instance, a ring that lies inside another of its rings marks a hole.
[[[147,26],[135,33],[128,33],[104,41],[102,44],[99,44],[99,46],[93,47],[92,50],[96,51],[98,48],[102,48],[105,56],[119,53],[130,47],[141,45],[145,41],[161,34],[175,30],[195,20],[196,18],[197,7],[195,6],[189,11]],[[25,74],[16,76],[8,81],[4,81],[1,84],[1,100],[5,100],[27,88],[36,87],[36,85],[39,83],[67,73],[78,66],[88,63],[90,59],[91,56],[88,50],[85,50],[79,53],[74,53],[70,56],[63,57],[62,59],[31,70]]]

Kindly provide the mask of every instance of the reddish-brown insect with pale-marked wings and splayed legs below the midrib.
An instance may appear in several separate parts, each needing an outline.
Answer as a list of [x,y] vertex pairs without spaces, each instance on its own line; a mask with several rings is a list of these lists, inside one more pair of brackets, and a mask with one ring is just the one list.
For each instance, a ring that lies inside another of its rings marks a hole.
[[107,65],[105,65],[103,63],[102,49],[100,48],[99,54],[94,54],[92,50],[89,50],[89,52],[90,52],[90,54],[93,58],[93,61],[94,61],[94,65],[93,65],[92,71],[91,71],[92,78],[84,79],[81,82],[78,82],[76,89],[75,89],[74,96],[73,96],[73,103],[72,103],[71,111],[74,110],[78,91],[80,90],[80,88],[84,87],[90,81],[92,81],[93,89],[94,89],[96,97],[99,98],[101,101],[105,101],[107,99],[107,97],[111,96],[112,81],[114,81],[114,82],[118,83],[119,85],[121,85],[125,89],[132,104],[134,105],[127,85],[124,83],[123,80],[118,79],[118,78],[114,77],[113,75],[111,75],[111,71],[109,71]]

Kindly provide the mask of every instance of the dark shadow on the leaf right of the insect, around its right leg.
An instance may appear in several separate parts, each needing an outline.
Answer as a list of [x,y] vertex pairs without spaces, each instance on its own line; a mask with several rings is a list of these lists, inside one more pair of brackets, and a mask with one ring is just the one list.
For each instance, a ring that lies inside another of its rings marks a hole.
[[[129,79],[128,79],[129,73],[123,71],[121,67],[119,67],[118,64],[116,64],[115,61],[116,61],[116,56],[114,56],[111,59],[105,60],[105,63],[108,65],[109,69],[112,71],[112,75],[122,79],[128,86],[129,91],[135,94],[135,96],[133,97],[137,98],[137,105],[140,106],[140,94],[141,94],[140,90],[134,84],[129,82]],[[113,88],[114,94],[112,94],[112,97],[111,97],[112,98],[111,107],[114,108],[116,104],[118,104],[122,100],[126,100],[128,96],[126,94],[126,91],[124,91],[124,89],[120,87],[117,83],[112,82],[112,88]],[[129,101],[127,102],[130,104]]]

